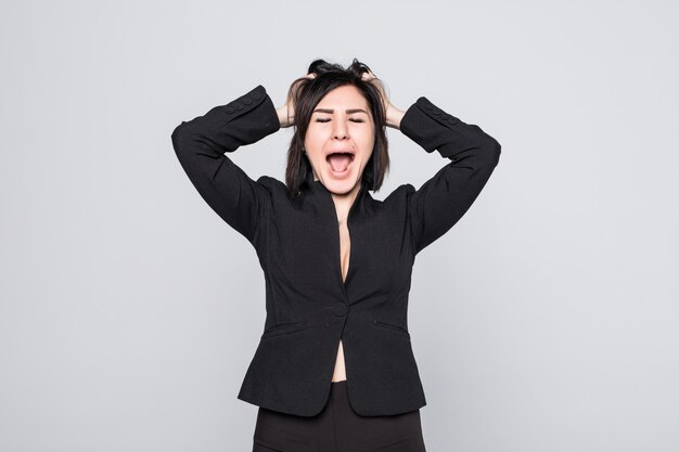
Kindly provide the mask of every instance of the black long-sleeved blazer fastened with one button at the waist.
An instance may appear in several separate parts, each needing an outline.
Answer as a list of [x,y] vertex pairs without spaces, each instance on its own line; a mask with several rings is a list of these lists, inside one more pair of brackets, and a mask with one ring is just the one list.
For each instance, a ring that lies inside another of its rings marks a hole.
[[290,196],[283,182],[267,176],[254,181],[225,155],[279,128],[271,99],[258,86],[172,132],[189,179],[252,243],[264,270],[264,333],[238,398],[283,413],[318,414],[342,339],[348,397],[358,414],[424,406],[407,321],[412,266],[472,205],[498,164],[500,144],[425,98],[411,105],[400,130],[447,164],[420,190],[402,184],[384,201],[361,188],[347,218],[351,253],[344,283],[337,217],[324,185],[309,172]]

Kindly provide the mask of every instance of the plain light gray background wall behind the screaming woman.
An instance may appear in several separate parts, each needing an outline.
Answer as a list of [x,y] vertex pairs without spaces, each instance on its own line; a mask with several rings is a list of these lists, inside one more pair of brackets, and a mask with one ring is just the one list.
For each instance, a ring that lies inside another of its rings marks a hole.
[[[426,95],[502,144],[414,268],[427,450],[676,452],[677,13],[2,1],[0,451],[251,450],[257,409],[235,397],[261,269],[170,133],[258,83],[279,105],[313,59],[357,56],[397,106]],[[381,199],[446,163],[389,132]],[[290,138],[233,158],[280,179]]]

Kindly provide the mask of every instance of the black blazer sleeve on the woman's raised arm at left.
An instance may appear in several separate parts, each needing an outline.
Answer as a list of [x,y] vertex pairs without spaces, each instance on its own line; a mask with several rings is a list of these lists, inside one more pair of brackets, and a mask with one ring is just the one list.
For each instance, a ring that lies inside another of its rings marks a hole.
[[177,158],[201,196],[252,244],[270,192],[226,154],[279,129],[273,103],[259,85],[204,116],[182,121],[171,135]]

